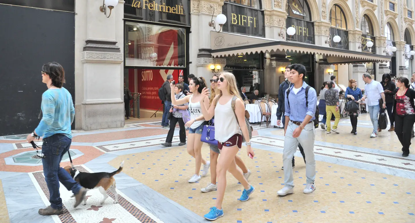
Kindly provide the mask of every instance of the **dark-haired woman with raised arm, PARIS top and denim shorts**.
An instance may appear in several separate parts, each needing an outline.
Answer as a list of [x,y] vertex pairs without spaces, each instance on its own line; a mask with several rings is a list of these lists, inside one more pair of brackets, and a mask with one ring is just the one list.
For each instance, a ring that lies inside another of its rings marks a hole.
[[181,99],[176,99],[174,96],[174,85],[173,82],[170,83],[171,87],[171,104],[188,104],[190,121],[186,123],[186,126],[190,127],[189,135],[187,139],[187,152],[193,156],[196,160],[195,174],[190,177],[188,180],[189,183],[195,183],[200,180],[200,165],[203,163],[203,172],[202,176],[206,176],[209,171],[210,162],[206,162],[202,158],[202,145],[203,142],[200,141],[202,136],[203,124],[205,123],[205,118],[202,114],[202,109],[200,108],[201,104],[205,106],[209,105],[209,99],[204,99],[200,94],[203,88],[206,87],[206,82],[204,78],[192,78],[189,82],[189,90],[193,92],[192,95],[187,95]]

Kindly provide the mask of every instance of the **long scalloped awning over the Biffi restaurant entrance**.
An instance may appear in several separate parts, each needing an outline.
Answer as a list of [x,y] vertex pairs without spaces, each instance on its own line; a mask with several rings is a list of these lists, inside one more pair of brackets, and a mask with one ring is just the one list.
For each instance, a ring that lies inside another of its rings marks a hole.
[[210,53],[214,58],[236,56],[239,53],[250,54],[268,51],[270,53],[286,54],[286,51],[293,51],[294,53],[323,55],[330,64],[383,63],[391,61],[391,56],[241,34],[217,33],[212,31],[210,33],[210,39],[212,48]]

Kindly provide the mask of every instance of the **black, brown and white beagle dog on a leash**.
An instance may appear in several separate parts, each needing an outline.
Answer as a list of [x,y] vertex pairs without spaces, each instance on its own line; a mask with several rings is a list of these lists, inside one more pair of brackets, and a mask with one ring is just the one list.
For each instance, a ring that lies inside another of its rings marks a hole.
[[[76,170],[75,168],[72,168],[71,166],[66,166],[63,169],[66,170],[73,179],[81,184],[82,187],[85,187],[87,190],[92,190],[98,188],[103,194],[104,199],[101,201],[101,204],[104,203],[105,199],[107,199],[107,189],[110,189],[112,194],[115,196],[114,204],[118,203],[118,193],[115,189],[115,179],[114,175],[120,173],[122,171],[122,167],[124,166],[124,161],[122,161],[120,168],[118,170],[115,170],[112,173],[108,172],[98,172],[98,173],[87,173],[87,172],[79,172],[79,170]],[[83,200],[83,204],[86,205],[86,196]]]

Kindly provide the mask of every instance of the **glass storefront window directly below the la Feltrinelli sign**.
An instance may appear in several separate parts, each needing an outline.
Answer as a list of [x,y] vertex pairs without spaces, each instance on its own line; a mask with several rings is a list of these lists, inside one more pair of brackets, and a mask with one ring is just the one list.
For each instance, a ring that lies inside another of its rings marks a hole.
[[126,22],[125,65],[186,67],[186,29]]

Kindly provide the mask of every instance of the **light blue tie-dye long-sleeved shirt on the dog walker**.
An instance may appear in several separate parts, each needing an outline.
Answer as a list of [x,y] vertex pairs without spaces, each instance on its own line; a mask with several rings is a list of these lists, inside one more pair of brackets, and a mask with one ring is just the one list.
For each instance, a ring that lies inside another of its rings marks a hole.
[[72,138],[71,124],[75,117],[72,96],[64,87],[48,89],[42,95],[42,119],[35,129],[38,136],[47,138],[57,133]]

